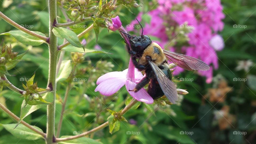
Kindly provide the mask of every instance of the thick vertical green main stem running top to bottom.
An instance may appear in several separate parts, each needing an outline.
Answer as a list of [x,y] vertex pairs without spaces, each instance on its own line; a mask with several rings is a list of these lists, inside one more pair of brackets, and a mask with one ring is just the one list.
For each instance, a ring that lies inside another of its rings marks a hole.
[[46,127],[46,143],[51,144],[55,142],[55,98],[56,98],[56,71],[58,61],[57,51],[57,37],[52,30],[57,23],[56,0],[48,0],[49,3],[49,79],[48,87],[53,92],[53,102],[47,106],[47,127]]

